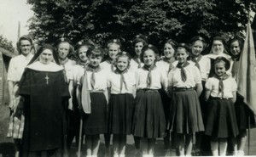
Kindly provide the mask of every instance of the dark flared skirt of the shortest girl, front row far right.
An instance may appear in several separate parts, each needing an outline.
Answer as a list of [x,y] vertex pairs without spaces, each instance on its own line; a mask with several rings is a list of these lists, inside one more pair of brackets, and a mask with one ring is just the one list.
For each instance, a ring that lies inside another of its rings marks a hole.
[[209,99],[205,133],[211,137],[236,137],[238,135],[235,109],[231,99]]

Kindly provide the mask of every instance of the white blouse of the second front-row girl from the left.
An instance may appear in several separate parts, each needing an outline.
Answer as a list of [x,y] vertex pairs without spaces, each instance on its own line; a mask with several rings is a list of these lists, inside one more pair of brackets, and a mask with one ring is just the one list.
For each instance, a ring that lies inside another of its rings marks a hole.
[[[120,91],[121,87],[121,75],[115,72],[112,72],[108,76],[108,87],[111,87],[111,93],[112,94],[119,94],[119,93],[132,93],[133,89],[136,85],[136,77],[135,73],[132,71],[127,71],[124,75],[124,82],[122,82],[122,91]],[[126,87],[125,88],[125,84]]]

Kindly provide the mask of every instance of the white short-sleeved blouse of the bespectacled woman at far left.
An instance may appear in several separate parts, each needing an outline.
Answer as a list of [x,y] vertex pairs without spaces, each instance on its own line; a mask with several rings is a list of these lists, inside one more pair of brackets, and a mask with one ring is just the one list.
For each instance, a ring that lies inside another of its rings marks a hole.
[[20,78],[25,70],[25,67],[30,62],[32,57],[33,57],[33,54],[30,53],[27,56],[20,54],[12,58],[9,62],[7,80],[20,81]]

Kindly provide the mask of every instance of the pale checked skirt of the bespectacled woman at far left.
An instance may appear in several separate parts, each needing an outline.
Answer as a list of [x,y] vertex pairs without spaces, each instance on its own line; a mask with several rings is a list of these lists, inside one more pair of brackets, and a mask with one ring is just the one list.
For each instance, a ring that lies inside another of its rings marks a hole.
[[21,139],[23,137],[23,131],[24,131],[24,123],[25,118],[23,115],[23,103],[24,98],[21,98],[20,96],[13,98],[15,109],[10,114],[9,118],[9,129],[7,133],[7,137],[13,137]]

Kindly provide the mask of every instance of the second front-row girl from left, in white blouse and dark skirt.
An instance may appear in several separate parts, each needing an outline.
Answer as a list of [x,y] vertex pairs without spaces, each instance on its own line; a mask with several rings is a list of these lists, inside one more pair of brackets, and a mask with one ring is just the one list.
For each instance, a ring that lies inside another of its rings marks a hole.
[[128,70],[130,59],[128,53],[118,53],[116,70],[108,76],[108,132],[113,134],[113,157],[125,157],[126,135],[131,134],[136,79]]

